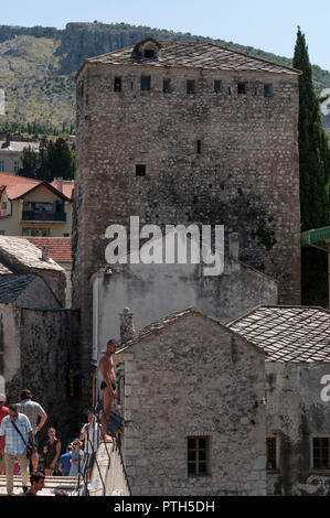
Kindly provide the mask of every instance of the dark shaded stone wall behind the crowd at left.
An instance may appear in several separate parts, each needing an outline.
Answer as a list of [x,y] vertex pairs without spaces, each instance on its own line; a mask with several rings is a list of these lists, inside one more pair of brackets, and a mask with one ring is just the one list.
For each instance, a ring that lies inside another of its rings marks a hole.
[[[8,309],[0,309],[0,314],[3,311]],[[8,400],[18,402],[22,388],[32,391],[33,399],[49,416],[41,441],[47,428],[55,427],[57,436],[66,444],[76,436],[82,420],[77,406],[79,393],[67,397],[68,370],[75,369],[78,354],[78,326],[77,312],[11,307],[10,328],[6,324],[3,330]],[[15,368],[10,368],[13,365]]]

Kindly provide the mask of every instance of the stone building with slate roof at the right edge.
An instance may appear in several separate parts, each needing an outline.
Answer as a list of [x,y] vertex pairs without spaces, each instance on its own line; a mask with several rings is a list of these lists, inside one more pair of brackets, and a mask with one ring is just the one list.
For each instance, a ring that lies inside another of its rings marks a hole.
[[330,494],[330,312],[264,306],[228,327],[266,358],[267,493]]

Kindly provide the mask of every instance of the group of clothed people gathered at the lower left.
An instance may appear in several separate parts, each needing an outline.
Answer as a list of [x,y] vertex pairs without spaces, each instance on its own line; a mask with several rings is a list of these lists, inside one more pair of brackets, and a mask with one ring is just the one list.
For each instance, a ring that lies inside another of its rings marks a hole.
[[[13,475],[18,474],[18,467],[22,475],[22,489],[25,496],[36,495],[43,487],[45,476],[77,476],[87,472],[91,478],[99,443],[99,428],[93,412],[88,414],[88,422],[82,428],[79,438],[66,447],[66,453],[63,455],[61,455],[61,441],[56,438],[54,428],[49,428],[49,439],[45,444],[38,443],[38,432],[46,419],[45,410],[36,401],[32,401],[29,389],[21,391],[19,403],[8,407],[6,407],[6,395],[0,393],[0,474],[6,474],[8,495],[13,495]],[[85,441],[84,451],[83,441]]]

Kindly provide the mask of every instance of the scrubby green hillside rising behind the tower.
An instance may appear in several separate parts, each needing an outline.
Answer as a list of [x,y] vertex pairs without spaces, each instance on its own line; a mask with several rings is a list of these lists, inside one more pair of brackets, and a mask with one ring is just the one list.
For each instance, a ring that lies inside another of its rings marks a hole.
[[[0,25],[0,87],[6,90],[8,125],[39,122],[58,130],[74,125],[74,73],[87,57],[130,46],[152,35],[159,40],[203,41],[227,46],[275,63],[291,66],[291,60],[251,46],[190,33],[131,26],[125,23],[68,23],[54,28]],[[330,73],[313,66],[317,93],[330,88]],[[330,131],[330,115],[323,117]]]

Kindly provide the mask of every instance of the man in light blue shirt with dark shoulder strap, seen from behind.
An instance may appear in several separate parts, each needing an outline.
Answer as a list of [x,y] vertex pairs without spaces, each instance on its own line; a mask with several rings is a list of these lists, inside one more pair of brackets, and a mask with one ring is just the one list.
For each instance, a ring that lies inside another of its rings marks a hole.
[[7,494],[13,495],[13,466],[19,461],[22,474],[23,492],[28,490],[28,467],[26,445],[30,439],[32,447],[36,451],[34,434],[29,418],[19,413],[17,404],[9,406],[9,416],[2,419],[0,425],[0,440],[6,435],[4,464],[7,477]]

